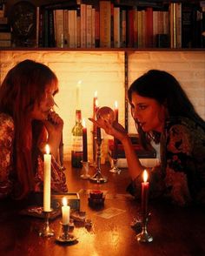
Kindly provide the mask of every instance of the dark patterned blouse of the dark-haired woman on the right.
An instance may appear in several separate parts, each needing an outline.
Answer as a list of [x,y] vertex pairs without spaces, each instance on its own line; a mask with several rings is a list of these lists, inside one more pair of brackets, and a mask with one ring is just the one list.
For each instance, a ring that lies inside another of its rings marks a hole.
[[[128,191],[140,197],[142,177]],[[188,118],[169,118],[161,135],[161,164],[149,173],[149,195],[177,205],[205,204],[205,131]]]

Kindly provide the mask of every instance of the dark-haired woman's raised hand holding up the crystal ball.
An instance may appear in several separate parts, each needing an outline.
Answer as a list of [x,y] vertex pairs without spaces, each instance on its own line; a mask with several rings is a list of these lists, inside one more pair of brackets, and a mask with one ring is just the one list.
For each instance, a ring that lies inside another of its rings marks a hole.
[[123,141],[123,139],[128,138],[128,133],[125,131],[124,127],[118,122],[114,121],[113,123],[104,118],[99,118],[97,120],[89,118],[96,126],[102,128],[107,134],[112,135],[113,137]]

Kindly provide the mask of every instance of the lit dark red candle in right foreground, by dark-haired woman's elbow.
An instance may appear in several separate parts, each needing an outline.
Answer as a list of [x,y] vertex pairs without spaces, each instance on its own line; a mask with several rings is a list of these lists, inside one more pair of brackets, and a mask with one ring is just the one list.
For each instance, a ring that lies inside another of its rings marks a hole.
[[148,194],[149,194],[149,182],[148,172],[144,170],[143,172],[143,182],[142,182],[142,216],[147,218],[148,214]]

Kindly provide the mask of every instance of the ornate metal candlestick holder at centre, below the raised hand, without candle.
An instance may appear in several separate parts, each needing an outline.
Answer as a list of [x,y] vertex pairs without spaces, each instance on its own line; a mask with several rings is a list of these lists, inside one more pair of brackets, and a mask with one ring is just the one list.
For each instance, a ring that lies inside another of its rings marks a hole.
[[96,138],[96,173],[89,178],[95,183],[105,183],[108,181],[107,177],[103,177],[101,173],[101,145],[102,138]]

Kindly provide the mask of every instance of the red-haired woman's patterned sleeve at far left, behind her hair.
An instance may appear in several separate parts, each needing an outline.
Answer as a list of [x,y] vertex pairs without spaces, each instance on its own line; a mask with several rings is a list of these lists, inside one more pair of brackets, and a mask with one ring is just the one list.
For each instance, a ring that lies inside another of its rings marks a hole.
[[0,114],[0,198],[10,194],[12,182],[12,148],[14,139],[14,122],[8,115]]

